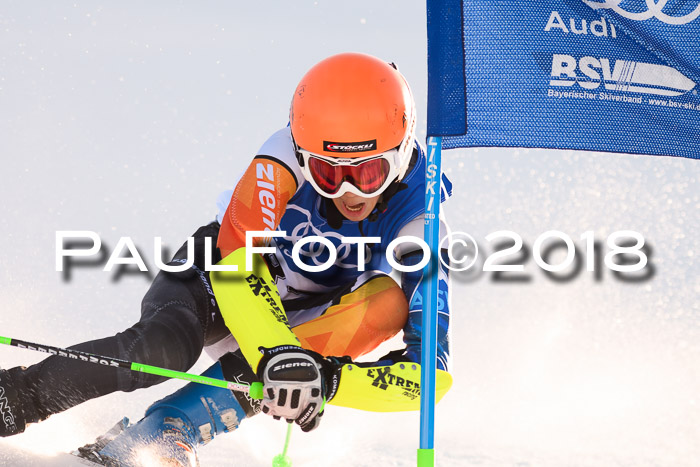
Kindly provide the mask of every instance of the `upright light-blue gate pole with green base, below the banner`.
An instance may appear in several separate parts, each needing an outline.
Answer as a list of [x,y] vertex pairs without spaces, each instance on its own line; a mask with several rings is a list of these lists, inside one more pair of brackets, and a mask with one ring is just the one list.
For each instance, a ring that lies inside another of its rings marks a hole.
[[440,157],[442,138],[428,138],[425,166],[425,242],[430,261],[423,270],[423,324],[421,339],[420,445],[418,467],[435,465],[435,367],[437,365],[437,292],[440,242]]

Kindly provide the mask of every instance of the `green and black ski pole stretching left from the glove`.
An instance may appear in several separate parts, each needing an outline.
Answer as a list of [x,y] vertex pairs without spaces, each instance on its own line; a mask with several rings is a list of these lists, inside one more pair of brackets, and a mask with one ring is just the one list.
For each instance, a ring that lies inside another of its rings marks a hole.
[[263,398],[263,385],[260,382],[254,382],[251,385],[234,383],[232,381],[226,381],[223,379],[209,378],[208,376],[195,375],[192,373],[185,373],[182,371],[168,370],[167,368],[145,365],[143,363],[129,362],[119,358],[104,357],[102,355],[83,352],[81,350],[62,349],[60,347],[53,347],[50,345],[35,344],[33,342],[12,339],[9,337],[0,336],[0,344],[6,344],[12,347],[18,347],[20,349],[36,350],[38,352],[44,352],[51,355],[58,355],[59,357],[72,358],[74,360],[80,360],[88,363],[95,363],[97,365],[105,365],[115,368],[126,368],[127,370],[140,371],[142,373],[148,373],[151,375],[165,376],[166,378],[176,378],[185,381],[191,381],[193,383],[207,384],[209,386],[216,386],[219,388],[229,389],[231,391],[247,393],[252,399]]

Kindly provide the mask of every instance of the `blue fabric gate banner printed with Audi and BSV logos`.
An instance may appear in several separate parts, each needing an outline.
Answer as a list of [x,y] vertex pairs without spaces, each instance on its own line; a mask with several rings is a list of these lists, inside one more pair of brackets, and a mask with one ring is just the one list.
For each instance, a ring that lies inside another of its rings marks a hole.
[[700,158],[700,0],[428,1],[428,135]]

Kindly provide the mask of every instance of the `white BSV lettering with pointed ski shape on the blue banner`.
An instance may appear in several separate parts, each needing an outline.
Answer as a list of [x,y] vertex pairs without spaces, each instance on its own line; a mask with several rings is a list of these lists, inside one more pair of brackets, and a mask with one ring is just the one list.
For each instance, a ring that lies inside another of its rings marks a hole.
[[551,86],[573,86],[608,91],[680,96],[695,87],[683,73],[666,65],[571,55],[552,56]]

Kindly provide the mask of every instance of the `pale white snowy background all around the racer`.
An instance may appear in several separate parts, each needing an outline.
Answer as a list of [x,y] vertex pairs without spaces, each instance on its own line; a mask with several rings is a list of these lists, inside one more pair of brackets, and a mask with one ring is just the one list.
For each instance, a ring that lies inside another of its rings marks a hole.
[[[423,2],[21,2],[0,16],[0,335],[67,346],[139,315],[143,276],[55,271],[55,232],[92,230],[176,248],[215,213],[265,138],[285,125],[308,67],[354,50],[396,61],[425,115]],[[421,138],[425,121],[421,120]],[[556,229],[598,240],[636,230],[653,279],[605,270],[555,283],[453,280],[455,385],[439,405],[441,466],[674,466],[700,458],[700,165],[663,157],[470,149],[444,155],[454,230]],[[111,250],[110,250],[111,251]],[[482,257],[483,258],[483,257]],[[0,366],[41,355],[0,348]],[[194,371],[211,362],[203,357]],[[114,394],[0,440],[69,451],[181,383]],[[285,427],[267,417],[200,450],[202,465],[270,465]],[[295,466],[415,464],[418,414],[331,407],[295,431]]]

